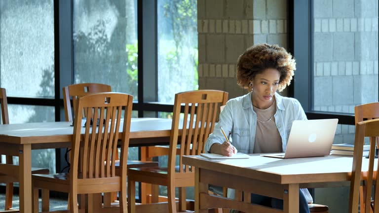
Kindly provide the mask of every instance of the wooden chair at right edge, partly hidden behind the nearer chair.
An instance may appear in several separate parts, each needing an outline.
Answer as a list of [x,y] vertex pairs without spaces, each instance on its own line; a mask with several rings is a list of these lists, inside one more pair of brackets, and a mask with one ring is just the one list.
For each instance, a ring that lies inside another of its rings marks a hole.
[[[355,125],[357,123],[364,121],[364,120],[371,120],[379,118],[379,103],[369,103],[369,104],[363,104],[359,106],[355,106],[354,108],[355,112]],[[378,139],[377,139],[377,146],[378,146]],[[363,185],[360,187],[360,202],[361,204],[364,204],[365,200],[363,199],[366,196],[367,193],[367,185],[366,182],[363,181]],[[365,212],[366,205],[361,205],[361,212]],[[371,211],[372,212],[372,211]]]

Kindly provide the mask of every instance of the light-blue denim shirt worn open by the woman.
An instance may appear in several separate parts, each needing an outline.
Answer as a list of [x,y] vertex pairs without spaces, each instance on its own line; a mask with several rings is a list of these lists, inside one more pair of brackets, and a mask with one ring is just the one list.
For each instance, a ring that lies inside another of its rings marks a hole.
[[[285,152],[292,122],[306,120],[306,115],[299,101],[294,98],[283,97],[275,93],[275,101],[275,124],[282,138],[282,149]],[[220,126],[223,127],[227,137],[231,137],[231,142],[238,152],[254,153],[257,113],[253,110],[251,93],[227,102],[224,110],[220,113],[219,122],[205,143],[206,152],[209,152],[213,143],[225,142]]]

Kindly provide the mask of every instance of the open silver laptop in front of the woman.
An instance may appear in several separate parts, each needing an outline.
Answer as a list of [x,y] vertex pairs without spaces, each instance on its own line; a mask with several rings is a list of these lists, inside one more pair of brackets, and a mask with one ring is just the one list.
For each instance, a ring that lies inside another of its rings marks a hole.
[[285,153],[261,154],[265,157],[299,158],[330,154],[338,119],[295,120]]

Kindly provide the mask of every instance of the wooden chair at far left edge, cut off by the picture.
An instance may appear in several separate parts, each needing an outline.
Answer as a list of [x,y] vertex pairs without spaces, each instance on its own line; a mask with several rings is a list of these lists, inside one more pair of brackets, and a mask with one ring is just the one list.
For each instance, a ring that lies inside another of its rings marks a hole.
[[[6,100],[6,91],[4,88],[0,88],[0,106],[1,106],[1,120],[2,124],[9,124],[8,117],[8,103]],[[0,153],[6,154],[6,153]],[[13,165],[13,156],[5,155],[6,164],[9,164],[10,168],[18,167],[17,165]],[[2,162],[1,162],[2,163]],[[14,174],[5,175],[0,173],[0,182],[6,183],[5,186],[5,211],[11,211],[12,209],[12,198],[13,198],[13,183],[18,182],[18,169],[12,169],[9,171],[14,171]],[[7,171],[8,172],[8,171]],[[42,168],[32,168],[32,174],[49,174],[48,169]]]

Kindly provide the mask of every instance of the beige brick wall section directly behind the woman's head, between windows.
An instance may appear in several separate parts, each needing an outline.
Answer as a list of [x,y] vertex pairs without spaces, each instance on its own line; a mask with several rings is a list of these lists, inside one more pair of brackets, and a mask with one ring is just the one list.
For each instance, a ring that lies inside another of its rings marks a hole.
[[287,48],[287,0],[198,0],[197,18],[199,89],[244,95],[235,78],[238,56],[258,43]]

